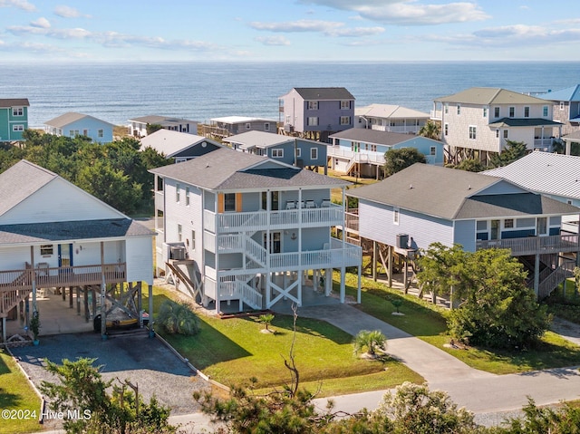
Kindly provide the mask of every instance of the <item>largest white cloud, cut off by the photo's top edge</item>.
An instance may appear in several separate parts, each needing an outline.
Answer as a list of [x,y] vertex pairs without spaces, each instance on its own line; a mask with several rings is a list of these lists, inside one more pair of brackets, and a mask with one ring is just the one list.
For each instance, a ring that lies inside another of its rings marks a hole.
[[469,2],[429,5],[417,0],[301,0],[301,3],[354,11],[362,18],[383,24],[449,24],[490,18],[478,5]]

